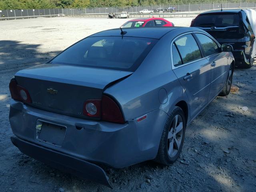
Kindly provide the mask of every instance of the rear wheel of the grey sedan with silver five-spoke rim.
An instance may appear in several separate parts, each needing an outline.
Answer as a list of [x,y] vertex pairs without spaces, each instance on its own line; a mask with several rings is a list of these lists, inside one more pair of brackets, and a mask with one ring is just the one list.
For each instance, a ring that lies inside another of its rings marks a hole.
[[158,154],[154,161],[164,165],[173,164],[180,156],[184,143],[185,131],[186,118],[184,112],[180,107],[175,106],[165,123],[158,148]]

